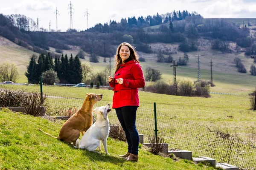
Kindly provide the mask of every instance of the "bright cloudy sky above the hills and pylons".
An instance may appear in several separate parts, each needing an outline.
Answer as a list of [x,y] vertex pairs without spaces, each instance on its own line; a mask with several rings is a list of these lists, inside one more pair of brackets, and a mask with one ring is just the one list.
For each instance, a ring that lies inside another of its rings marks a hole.
[[[0,13],[23,14],[37,21],[39,28],[70,28],[70,0],[0,0]],[[120,22],[122,18],[196,11],[204,18],[256,18],[256,0],[71,0],[73,28],[81,31],[97,23]]]

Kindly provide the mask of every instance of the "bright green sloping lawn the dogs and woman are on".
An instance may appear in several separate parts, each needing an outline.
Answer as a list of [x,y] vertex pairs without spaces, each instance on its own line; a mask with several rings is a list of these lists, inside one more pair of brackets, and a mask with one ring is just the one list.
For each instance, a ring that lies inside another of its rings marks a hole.
[[192,161],[155,156],[144,147],[139,161],[128,162],[117,154],[125,153],[127,144],[108,138],[110,155],[75,149],[38,131],[37,127],[58,136],[64,122],[50,122],[40,117],[0,110],[0,169],[90,169],[90,170],[213,170]]

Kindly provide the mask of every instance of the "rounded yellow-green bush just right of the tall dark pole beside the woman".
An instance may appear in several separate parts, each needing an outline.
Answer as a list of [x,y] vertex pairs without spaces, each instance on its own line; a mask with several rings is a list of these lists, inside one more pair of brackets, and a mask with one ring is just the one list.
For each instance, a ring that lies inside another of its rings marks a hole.
[[192,96],[195,92],[195,84],[191,79],[182,79],[178,82],[179,96]]

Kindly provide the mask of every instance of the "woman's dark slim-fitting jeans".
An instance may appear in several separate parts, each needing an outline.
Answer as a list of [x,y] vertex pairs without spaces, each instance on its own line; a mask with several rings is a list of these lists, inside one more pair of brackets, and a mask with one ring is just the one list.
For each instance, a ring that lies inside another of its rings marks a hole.
[[128,152],[134,155],[138,155],[139,147],[139,133],[135,125],[137,108],[137,106],[116,108],[117,118],[125,131],[128,143]]

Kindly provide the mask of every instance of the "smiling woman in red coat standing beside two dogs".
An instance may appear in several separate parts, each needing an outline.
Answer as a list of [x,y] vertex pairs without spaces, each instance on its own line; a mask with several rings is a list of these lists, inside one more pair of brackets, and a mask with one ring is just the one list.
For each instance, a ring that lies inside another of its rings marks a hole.
[[129,43],[123,42],[118,46],[115,66],[115,77],[108,77],[109,85],[114,88],[112,108],[116,109],[128,143],[128,152],[118,156],[138,161],[139,133],[135,122],[140,104],[138,88],[145,86],[145,79],[137,53]]

